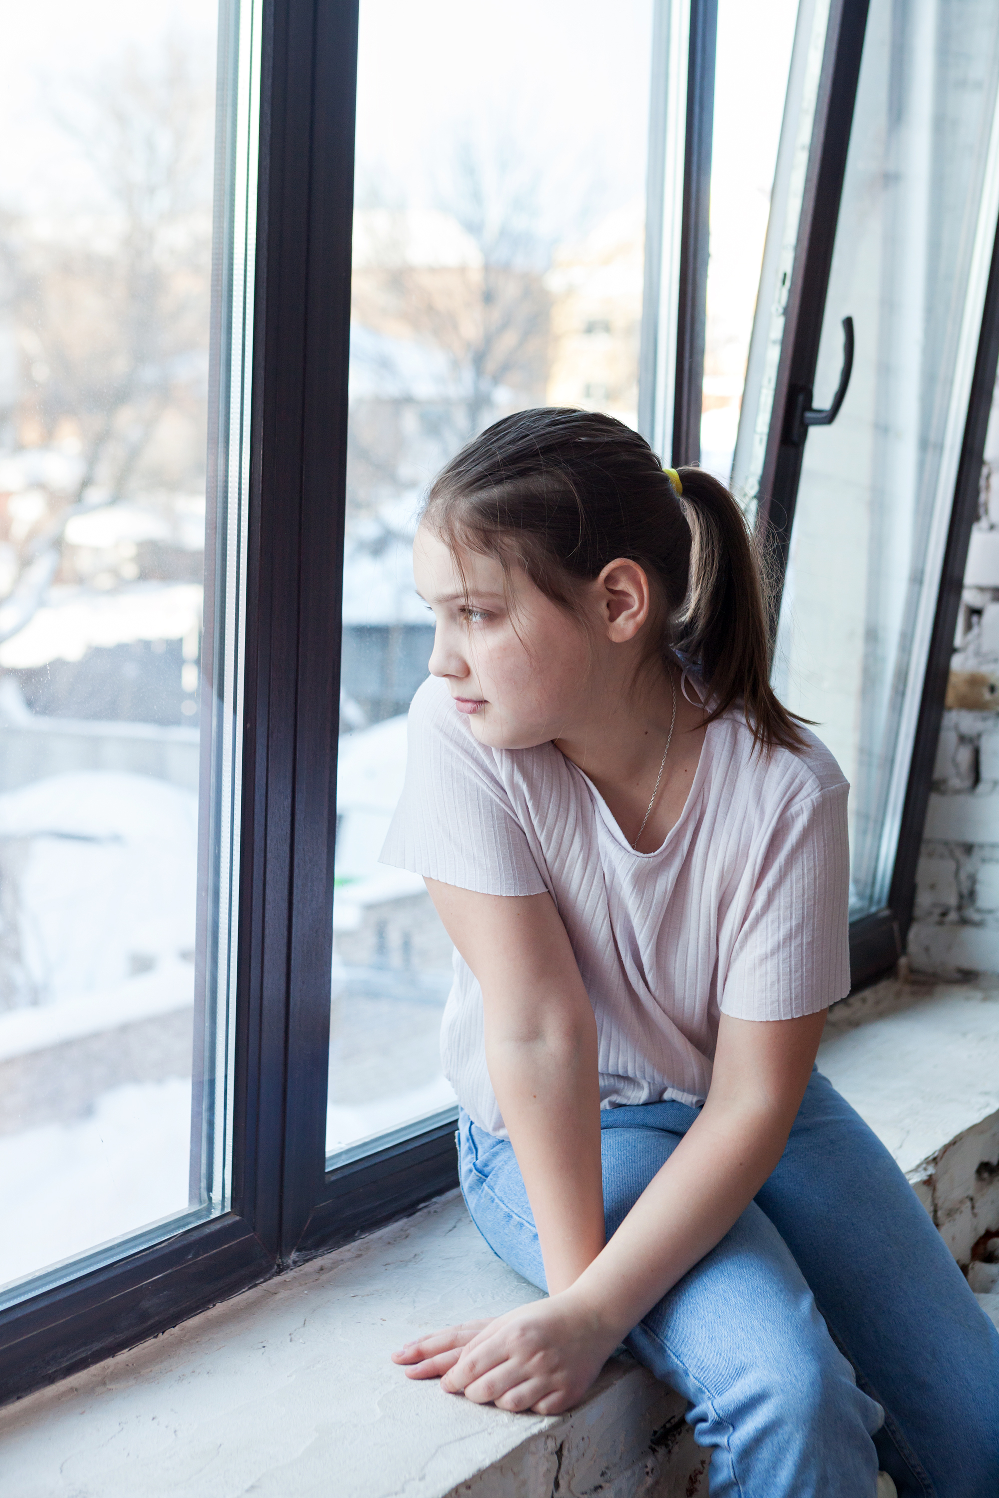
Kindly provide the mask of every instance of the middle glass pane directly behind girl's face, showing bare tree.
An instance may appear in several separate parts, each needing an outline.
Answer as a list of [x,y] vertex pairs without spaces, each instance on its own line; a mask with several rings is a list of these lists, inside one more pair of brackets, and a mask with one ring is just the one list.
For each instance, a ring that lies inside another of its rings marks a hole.
[[328,1149],[452,1103],[451,947],[379,866],[433,643],[416,508],[499,416],[635,425],[652,0],[361,0]]

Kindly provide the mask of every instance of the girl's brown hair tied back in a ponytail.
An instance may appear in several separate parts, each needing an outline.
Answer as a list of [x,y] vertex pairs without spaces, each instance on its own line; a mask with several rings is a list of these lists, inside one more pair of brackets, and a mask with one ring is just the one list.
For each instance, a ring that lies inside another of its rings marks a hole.
[[765,569],[743,512],[710,473],[678,472],[683,497],[622,421],[545,406],[473,437],[431,484],[422,520],[452,550],[520,563],[572,613],[574,581],[614,557],[638,562],[661,595],[652,649],[698,671],[708,722],[741,703],[756,745],[801,749],[801,719],[770,688]]

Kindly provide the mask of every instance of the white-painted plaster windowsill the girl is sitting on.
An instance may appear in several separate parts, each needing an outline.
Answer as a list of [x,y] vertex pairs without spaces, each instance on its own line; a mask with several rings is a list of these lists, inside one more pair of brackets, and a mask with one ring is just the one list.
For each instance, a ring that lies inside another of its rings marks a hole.
[[[960,1171],[996,1159],[999,992],[881,986],[834,1019],[821,1065],[930,1209],[947,1215]],[[984,1197],[977,1210],[992,1210]],[[975,1227],[959,1218],[945,1236]],[[571,1491],[602,1485],[602,1498],[686,1492],[704,1453],[678,1396],[635,1365],[611,1365],[580,1411],[545,1420],[449,1398],[389,1362],[421,1330],[536,1294],[452,1194],[1,1410],[0,1486],[16,1498],[547,1498],[560,1471]],[[987,1309],[995,1318],[999,1297]]]

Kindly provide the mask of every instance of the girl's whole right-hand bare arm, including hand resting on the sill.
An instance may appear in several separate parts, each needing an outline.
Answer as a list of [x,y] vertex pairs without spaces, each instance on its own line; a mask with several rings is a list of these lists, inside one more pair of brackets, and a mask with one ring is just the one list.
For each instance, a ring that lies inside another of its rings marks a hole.
[[607,1248],[550,1300],[472,1338],[455,1329],[404,1348],[398,1360],[413,1365],[410,1375],[445,1374],[445,1389],[505,1410],[557,1414],[577,1404],[622,1338],[714,1248],[780,1159],[824,1022],[825,1011],[765,1022],[723,1014],[707,1103]]

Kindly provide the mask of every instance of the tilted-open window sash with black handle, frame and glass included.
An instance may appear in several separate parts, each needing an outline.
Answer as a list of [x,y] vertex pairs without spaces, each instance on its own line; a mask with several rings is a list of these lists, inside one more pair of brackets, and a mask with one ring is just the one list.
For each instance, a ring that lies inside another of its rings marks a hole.
[[800,6],[734,481],[780,571],[777,689],[852,783],[855,981],[912,912],[995,377],[998,99],[987,4]]

